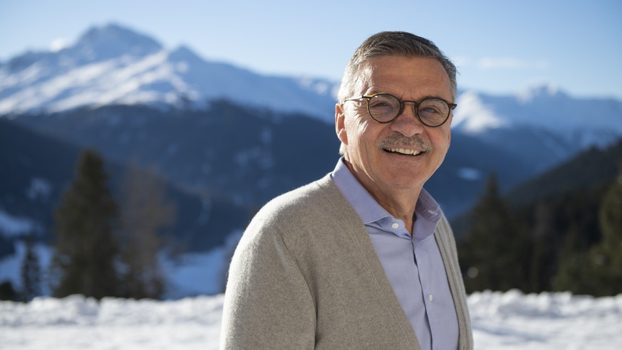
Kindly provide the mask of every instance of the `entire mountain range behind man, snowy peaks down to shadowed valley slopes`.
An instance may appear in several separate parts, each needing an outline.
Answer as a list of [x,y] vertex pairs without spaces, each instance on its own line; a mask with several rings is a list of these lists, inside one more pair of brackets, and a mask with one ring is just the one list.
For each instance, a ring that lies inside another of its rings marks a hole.
[[[0,63],[0,257],[14,255],[18,235],[49,230],[81,147],[153,166],[189,216],[175,234],[199,252],[222,245],[269,198],[333,169],[337,87],[209,62],[118,25]],[[622,137],[622,101],[552,85],[505,96],[465,90],[457,104],[450,152],[426,184],[450,218],[492,172],[509,190]]]

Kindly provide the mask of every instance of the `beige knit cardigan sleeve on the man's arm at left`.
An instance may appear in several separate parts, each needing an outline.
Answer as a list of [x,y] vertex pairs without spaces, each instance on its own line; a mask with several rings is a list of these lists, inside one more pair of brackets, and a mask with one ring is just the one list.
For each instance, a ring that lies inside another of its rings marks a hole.
[[276,225],[254,220],[234,253],[224,296],[221,349],[313,349],[316,312]]

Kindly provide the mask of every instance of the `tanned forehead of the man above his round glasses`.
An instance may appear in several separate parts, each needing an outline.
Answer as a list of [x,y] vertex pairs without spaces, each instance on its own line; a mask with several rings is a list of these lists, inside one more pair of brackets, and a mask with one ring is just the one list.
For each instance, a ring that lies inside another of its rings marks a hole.
[[380,56],[360,70],[356,95],[389,92],[402,99],[436,96],[451,100],[450,78],[434,58]]

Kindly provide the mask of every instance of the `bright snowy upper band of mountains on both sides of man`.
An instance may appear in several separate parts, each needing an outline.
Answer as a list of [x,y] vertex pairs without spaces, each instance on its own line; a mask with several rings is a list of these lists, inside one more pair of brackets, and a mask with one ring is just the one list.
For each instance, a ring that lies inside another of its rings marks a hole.
[[[203,108],[224,98],[332,123],[338,85],[321,78],[261,75],[204,60],[187,46],[168,49],[146,34],[110,23],[88,28],[61,51],[29,51],[0,63],[0,115],[114,104]],[[604,146],[622,134],[621,100],[571,97],[552,83],[513,95],[460,90],[456,102],[452,128],[458,132],[482,134],[529,125],[559,133],[586,126],[598,129],[597,134],[616,133],[591,135],[580,140],[581,147],[594,142]]]

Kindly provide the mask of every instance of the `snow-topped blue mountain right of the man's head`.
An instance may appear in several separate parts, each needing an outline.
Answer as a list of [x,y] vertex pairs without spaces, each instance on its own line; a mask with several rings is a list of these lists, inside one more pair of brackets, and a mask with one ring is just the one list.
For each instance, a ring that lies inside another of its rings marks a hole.
[[515,154],[537,171],[622,136],[622,101],[574,98],[553,85],[509,96],[466,91],[458,96],[457,105],[454,132]]

